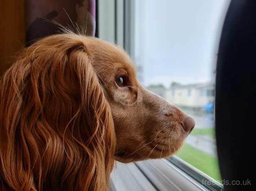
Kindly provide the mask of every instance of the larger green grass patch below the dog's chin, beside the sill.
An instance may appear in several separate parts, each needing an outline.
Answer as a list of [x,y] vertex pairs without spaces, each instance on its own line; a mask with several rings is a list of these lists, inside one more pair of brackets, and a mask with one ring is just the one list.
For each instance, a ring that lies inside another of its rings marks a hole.
[[201,170],[215,180],[221,181],[221,176],[218,169],[218,160],[210,154],[207,154],[188,144],[185,144],[179,150],[176,156],[181,158],[183,161],[186,161],[190,165],[196,167],[197,169]]

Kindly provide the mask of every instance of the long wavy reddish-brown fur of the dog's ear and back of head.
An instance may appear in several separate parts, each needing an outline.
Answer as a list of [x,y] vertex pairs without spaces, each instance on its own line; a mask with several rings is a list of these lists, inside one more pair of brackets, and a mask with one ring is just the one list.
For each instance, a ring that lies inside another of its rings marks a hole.
[[108,189],[113,119],[82,38],[36,42],[0,80],[0,189]]

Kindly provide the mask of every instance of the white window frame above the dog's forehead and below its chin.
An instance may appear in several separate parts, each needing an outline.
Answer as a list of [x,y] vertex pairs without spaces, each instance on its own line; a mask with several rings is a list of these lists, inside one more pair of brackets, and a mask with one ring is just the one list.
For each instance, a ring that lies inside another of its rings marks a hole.
[[[97,10],[98,37],[116,43],[134,59],[135,0],[97,0]],[[118,181],[118,173],[127,174],[127,177]],[[203,184],[202,180],[208,183]],[[117,162],[117,168],[111,174],[111,190],[148,190],[148,187],[161,191],[223,190],[223,185],[177,156],[128,165]]]

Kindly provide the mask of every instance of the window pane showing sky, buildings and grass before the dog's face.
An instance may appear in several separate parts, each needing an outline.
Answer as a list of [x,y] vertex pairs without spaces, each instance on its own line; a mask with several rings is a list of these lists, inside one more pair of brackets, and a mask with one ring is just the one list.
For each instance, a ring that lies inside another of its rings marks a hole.
[[135,64],[141,83],[192,116],[177,156],[221,180],[214,131],[215,65],[229,0],[135,1]]

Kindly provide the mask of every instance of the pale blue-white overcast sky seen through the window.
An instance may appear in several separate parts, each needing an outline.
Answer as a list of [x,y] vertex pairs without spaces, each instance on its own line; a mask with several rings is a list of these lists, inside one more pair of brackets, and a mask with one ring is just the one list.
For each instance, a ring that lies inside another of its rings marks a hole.
[[135,63],[143,85],[214,80],[218,43],[230,0],[140,0]]

